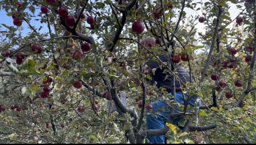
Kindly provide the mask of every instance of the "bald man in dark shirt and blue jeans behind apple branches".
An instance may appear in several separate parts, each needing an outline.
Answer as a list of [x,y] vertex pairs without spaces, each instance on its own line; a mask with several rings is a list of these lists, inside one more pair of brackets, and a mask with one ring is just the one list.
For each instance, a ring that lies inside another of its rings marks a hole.
[[[151,49],[156,45],[155,42],[155,38],[152,37],[146,37],[143,40],[141,40],[141,45],[143,45],[144,47],[146,47],[147,49]],[[141,47],[143,49],[143,47]],[[143,49],[143,55],[146,56],[147,54],[149,54],[149,51],[147,51],[146,49]],[[177,64],[179,64],[180,62],[180,58],[178,58],[178,56],[175,56],[172,58],[172,60],[170,60],[170,57],[168,56],[167,52],[165,55],[158,55],[158,57],[161,59],[162,62],[170,62],[173,61],[175,63],[175,66]],[[167,95],[171,95],[171,75],[169,72],[164,72],[164,68],[160,68],[159,65],[161,64],[161,62],[157,62],[152,60],[152,58],[150,58],[147,62],[144,63],[144,65],[146,66],[146,72],[148,72],[148,74],[152,77],[152,80],[149,82],[150,85],[153,85],[155,82],[157,83],[156,86],[157,88],[160,87],[164,87],[166,89],[166,91],[168,92]],[[153,69],[155,69],[154,74],[153,74]],[[132,80],[137,84],[140,85],[140,79],[136,78],[128,69],[127,66],[123,65],[122,66],[122,70],[128,72],[128,74],[130,75],[130,77],[132,78]],[[181,79],[180,80],[180,84],[181,85],[185,85],[186,82],[190,82],[190,75],[189,73],[184,69],[184,67],[177,67],[176,68],[176,72],[178,73],[178,77]],[[166,75],[168,75],[169,77],[166,77]],[[193,81],[191,81],[191,83],[193,83]],[[120,90],[123,89],[122,85],[125,85],[126,81],[122,81],[121,84],[119,85]],[[184,99],[181,93],[181,86],[179,84],[179,80],[175,79],[175,91],[176,91],[176,96],[175,96],[175,101],[177,103],[179,103],[180,105],[183,105],[184,103]],[[108,91],[104,91],[102,93],[102,97],[106,95],[105,97],[108,99],[111,99],[110,94],[108,93]],[[173,99],[170,97],[168,97],[170,100]],[[185,94],[185,98],[188,98],[188,95]],[[169,100],[169,101],[170,101]],[[168,116],[170,114],[170,107],[168,104],[164,103],[167,100],[156,100],[154,102],[152,102],[150,105],[152,106],[152,113],[151,115],[147,115],[146,116],[146,125],[147,125],[147,129],[161,129],[165,126],[165,123],[167,122]],[[193,97],[190,101],[189,101],[189,105],[192,107],[196,107],[197,109],[199,109],[201,104],[201,100],[200,98],[198,98],[197,96]],[[150,107],[151,107],[150,106]],[[165,111],[162,111],[162,108],[166,108]],[[175,106],[175,110],[181,111],[179,109],[177,109],[178,107]],[[176,111],[174,111],[174,113],[177,113]],[[156,116],[156,117],[152,117],[152,116]],[[181,118],[176,118],[173,120],[173,125],[176,125],[179,123],[179,121],[182,119]],[[149,136],[146,137],[149,141],[149,143],[152,144],[164,144],[164,135],[160,135],[160,136]],[[146,143],[147,142],[146,139]]]

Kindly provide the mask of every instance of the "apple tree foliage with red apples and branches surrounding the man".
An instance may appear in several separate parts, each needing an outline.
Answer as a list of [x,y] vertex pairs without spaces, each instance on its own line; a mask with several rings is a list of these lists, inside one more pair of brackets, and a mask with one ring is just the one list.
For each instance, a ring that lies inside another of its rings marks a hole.
[[[231,4],[240,11],[235,19]],[[1,143],[144,143],[153,134],[166,134],[167,143],[256,143],[255,0],[2,0],[0,6],[13,20],[0,25]],[[143,56],[140,40],[148,36],[157,45]],[[143,64],[166,52],[172,61],[159,67],[179,80],[180,62],[194,81],[183,93],[202,103],[198,112],[180,106],[179,126],[170,115],[163,129],[147,131],[149,104],[167,92],[144,81],[152,78]],[[126,106],[117,94],[123,80]],[[117,106],[112,113],[101,97],[107,89]]]

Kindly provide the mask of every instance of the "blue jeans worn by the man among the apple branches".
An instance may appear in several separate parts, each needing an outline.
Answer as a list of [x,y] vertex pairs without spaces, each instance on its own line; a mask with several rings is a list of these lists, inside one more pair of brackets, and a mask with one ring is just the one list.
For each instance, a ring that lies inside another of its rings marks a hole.
[[[169,93],[167,95],[171,95],[171,93]],[[188,96],[185,95],[185,98],[188,98]],[[169,98],[169,99],[172,99],[172,98]],[[163,103],[162,101],[165,102],[165,103]],[[163,128],[165,126],[165,123],[168,120],[168,116],[169,116],[171,108],[166,104],[167,100],[162,100],[162,101],[156,100],[155,102],[151,103],[151,105],[153,106],[153,110],[152,110],[151,115],[147,115],[146,116],[147,129],[161,129],[161,128]],[[183,96],[182,96],[181,93],[176,93],[176,102],[179,103],[180,105],[183,105],[184,99],[183,99]],[[198,103],[197,106],[196,106],[196,109],[199,109],[200,104],[201,104],[201,100],[198,97],[196,97],[196,96],[194,96],[189,101],[189,105],[194,107],[195,103]],[[157,105],[155,105],[155,104],[157,104]],[[163,107],[166,108],[164,113],[163,113],[162,110],[159,110],[159,109],[161,109]],[[177,108],[178,108],[178,106],[175,106],[175,110],[179,110]],[[174,111],[174,113],[177,113],[177,112]],[[176,125],[177,123],[179,123],[179,121],[181,119],[182,119],[182,117],[174,119],[172,124]],[[164,144],[164,135],[148,136],[146,138],[149,140],[149,143],[152,143],[152,144]],[[146,144],[148,143],[147,139],[145,141]]]

